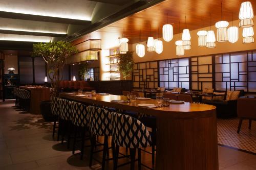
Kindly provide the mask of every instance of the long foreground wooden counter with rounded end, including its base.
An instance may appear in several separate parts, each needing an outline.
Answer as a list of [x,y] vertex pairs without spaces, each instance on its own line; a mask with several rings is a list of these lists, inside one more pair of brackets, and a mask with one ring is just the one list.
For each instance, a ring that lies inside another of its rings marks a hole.
[[150,109],[137,105],[141,103],[157,104],[156,100],[112,103],[111,100],[127,100],[127,98],[120,95],[79,97],[67,93],[60,93],[60,97],[156,116],[156,169],[219,169],[215,106],[184,103]]

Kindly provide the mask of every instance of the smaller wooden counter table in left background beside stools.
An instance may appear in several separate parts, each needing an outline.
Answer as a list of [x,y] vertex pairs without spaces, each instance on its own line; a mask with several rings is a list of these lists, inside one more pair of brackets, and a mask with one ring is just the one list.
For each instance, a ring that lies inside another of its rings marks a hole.
[[40,114],[41,102],[50,100],[50,88],[44,86],[19,86],[19,88],[30,91],[29,112],[32,114]]

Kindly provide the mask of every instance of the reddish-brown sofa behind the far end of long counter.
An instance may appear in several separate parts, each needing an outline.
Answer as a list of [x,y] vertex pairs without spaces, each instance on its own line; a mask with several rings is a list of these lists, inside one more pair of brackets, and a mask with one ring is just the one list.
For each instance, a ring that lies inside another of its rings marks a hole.
[[76,91],[82,89],[83,91],[94,90],[87,81],[60,81],[61,91]]

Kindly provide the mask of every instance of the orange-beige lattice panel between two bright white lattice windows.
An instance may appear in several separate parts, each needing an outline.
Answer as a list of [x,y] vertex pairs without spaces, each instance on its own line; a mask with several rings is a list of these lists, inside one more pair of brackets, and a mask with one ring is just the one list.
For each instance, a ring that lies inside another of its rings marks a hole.
[[191,89],[212,88],[212,56],[191,58]]

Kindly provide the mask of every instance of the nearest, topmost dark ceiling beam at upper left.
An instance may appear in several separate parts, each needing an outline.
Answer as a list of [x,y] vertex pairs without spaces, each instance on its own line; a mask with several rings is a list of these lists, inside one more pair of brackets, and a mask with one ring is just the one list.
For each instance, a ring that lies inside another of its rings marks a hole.
[[55,23],[66,23],[66,24],[72,24],[72,25],[90,25],[91,24],[91,21],[88,21],[88,20],[59,18],[59,17],[41,16],[41,15],[31,15],[31,14],[22,14],[22,13],[5,12],[5,11],[0,11],[0,16],[2,18],[34,20],[34,21],[55,22]]

